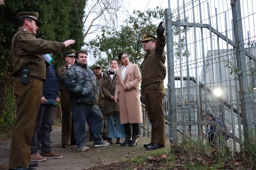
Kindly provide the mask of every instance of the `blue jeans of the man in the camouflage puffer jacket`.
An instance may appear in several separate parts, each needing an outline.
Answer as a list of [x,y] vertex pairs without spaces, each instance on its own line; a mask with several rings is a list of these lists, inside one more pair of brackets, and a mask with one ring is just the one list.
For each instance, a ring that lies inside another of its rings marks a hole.
[[93,144],[100,144],[103,131],[103,116],[97,104],[78,104],[72,107],[72,119],[77,147],[86,143],[86,122],[92,130]]

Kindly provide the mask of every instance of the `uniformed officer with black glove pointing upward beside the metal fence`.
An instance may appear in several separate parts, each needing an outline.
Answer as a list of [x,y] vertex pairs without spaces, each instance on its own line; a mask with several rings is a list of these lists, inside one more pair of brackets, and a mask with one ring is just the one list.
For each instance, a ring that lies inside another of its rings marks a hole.
[[162,22],[156,30],[157,38],[145,32],[143,48],[147,52],[141,63],[141,102],[145,103],[147,115],[151,122],[151,142],[144,145],[147,150],[165,147],[164,79],[166,57],[164,46],[166,37]]

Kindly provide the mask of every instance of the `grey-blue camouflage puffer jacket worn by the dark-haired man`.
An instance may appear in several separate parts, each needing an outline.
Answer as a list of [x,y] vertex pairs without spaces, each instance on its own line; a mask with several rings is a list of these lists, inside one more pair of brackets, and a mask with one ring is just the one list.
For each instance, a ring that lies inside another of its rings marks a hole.
[[77,104],[97,104],[99,87],[97,79],[87,64],[70,66],[64,76],[64,84],[69,91],[70,106]]

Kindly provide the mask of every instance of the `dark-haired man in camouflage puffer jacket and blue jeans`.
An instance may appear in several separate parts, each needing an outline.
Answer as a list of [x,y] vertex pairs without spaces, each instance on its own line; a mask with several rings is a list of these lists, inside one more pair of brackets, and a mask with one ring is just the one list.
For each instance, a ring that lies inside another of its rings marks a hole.
[[70,106],[74,121],[74,133],[78,151],[87,151],[86,127],[92,131],[94,147],[108,146],[102,139],[103,116],[98,106],[99,87],[95,74],[87,67],[87,52],[76,52],[76,63],[65,73],[64,83],[70,91]]

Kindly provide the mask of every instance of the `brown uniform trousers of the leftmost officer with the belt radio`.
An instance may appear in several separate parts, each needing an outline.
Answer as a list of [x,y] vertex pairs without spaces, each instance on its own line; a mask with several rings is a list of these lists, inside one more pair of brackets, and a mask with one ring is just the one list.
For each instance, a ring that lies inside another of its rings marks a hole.
[[17,97],[17,118],[13,126],[9,167],[28,167],[30,143],[36,126],[43,82],[31,78],[28,84],[22,84],[18,77],[15,78],[13,87]]

